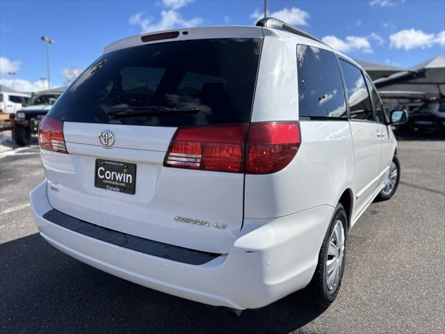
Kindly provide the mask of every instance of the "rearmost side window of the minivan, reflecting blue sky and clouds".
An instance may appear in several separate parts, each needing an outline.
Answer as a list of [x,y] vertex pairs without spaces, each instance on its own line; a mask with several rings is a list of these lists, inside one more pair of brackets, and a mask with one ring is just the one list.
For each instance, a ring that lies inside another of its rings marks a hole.
[[331,51],[297,46],[300,118],[348,118],[337,58]]

